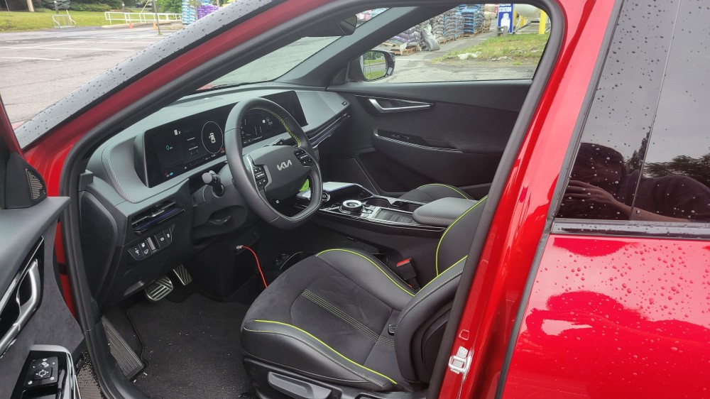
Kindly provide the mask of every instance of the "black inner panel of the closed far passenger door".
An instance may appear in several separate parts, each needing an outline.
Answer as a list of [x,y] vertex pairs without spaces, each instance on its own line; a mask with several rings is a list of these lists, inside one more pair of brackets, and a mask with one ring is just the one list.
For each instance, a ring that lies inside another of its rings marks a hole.
[[481,197],[531,82],[330,87],[351,102],[352,123],[323,151],[331,162],[327,179],[358,182],[384,195],[445,183]]

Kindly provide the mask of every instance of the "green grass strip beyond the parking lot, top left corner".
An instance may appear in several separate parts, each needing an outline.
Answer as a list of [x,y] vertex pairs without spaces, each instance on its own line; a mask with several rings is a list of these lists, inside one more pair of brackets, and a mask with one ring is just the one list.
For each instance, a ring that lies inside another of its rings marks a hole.
[[[38,9],[36,12],[27,11],[7,11],[0,12],[0,32],[22,32],[38,31],[40,29],[51,29],[54,27],[52,15],[54,11],[48,9]],[[60,11],[66,13],[66,11]],[[103,12],[94,11],[69,11],[74,21],[79,26],[103,26],[109,21],[104,18]]]

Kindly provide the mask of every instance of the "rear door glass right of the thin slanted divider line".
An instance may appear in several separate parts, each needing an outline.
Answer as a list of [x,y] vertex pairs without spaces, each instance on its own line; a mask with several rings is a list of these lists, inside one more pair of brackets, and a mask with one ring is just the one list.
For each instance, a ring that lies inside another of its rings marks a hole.
[[707,7],[682,1],[678,9],[665,77],[658,101],[643,177],[634,207],[667,203],[669,216],[710,222],[710,32],[699,23]]

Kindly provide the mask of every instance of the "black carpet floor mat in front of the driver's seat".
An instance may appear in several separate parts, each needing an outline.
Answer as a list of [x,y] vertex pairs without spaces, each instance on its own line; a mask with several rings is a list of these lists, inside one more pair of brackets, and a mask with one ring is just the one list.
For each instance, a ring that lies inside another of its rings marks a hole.
[[128,315],[148,364],[136,378],[138,389],[153,399],[253,396],[239,340],[248,309],[197,294],[133,305]]

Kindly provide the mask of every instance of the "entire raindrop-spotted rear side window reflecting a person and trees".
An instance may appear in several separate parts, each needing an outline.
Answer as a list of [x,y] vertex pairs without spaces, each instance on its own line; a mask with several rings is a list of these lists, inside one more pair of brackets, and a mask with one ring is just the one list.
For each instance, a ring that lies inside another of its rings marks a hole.
[[623,7],[557,217],[710,222],[710,7],[699,5]]

